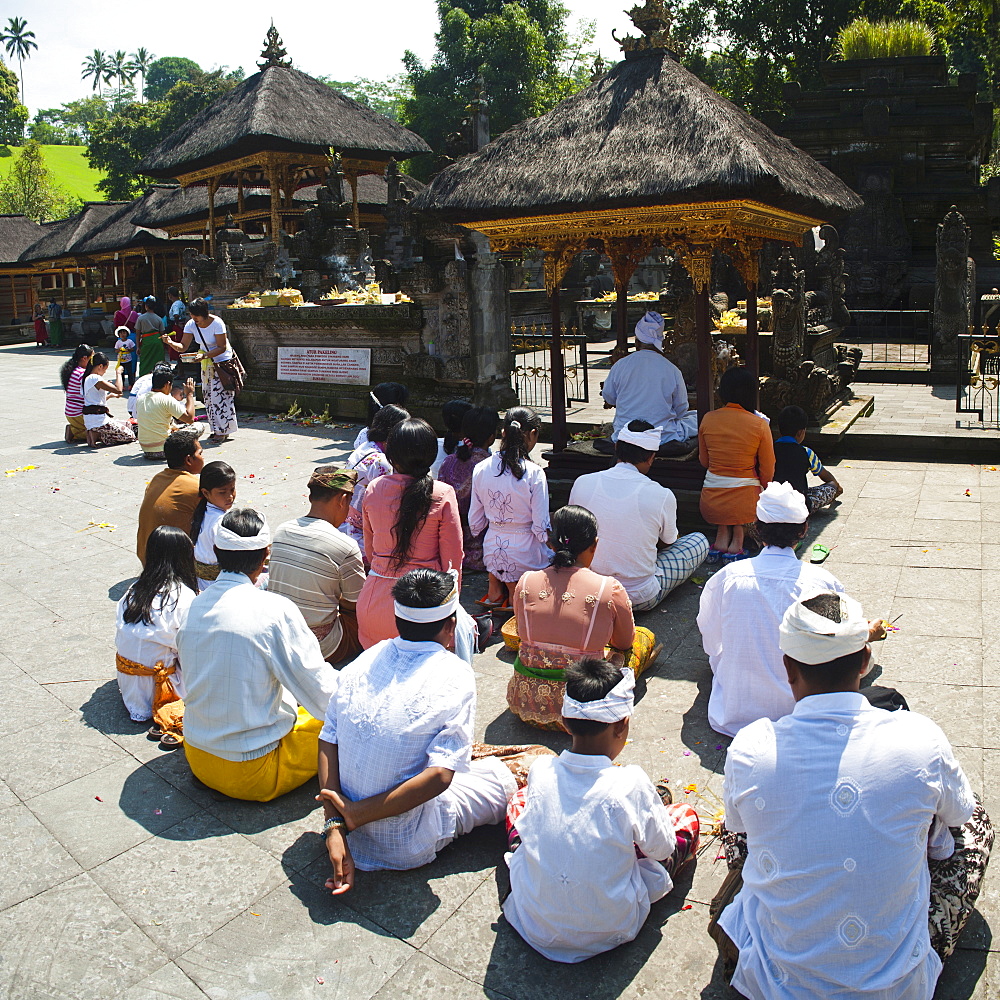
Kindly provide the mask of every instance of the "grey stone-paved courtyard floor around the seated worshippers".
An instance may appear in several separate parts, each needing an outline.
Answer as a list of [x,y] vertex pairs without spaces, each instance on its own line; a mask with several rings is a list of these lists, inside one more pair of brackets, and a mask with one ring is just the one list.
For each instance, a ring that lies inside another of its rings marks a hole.
[[[183,753],[162,753],[129,720],[114,679],[115,601],[138,571],[136,512],[157,468],[138,446],[62,443],[63,357],[0,348],[0,470],[19,470],[0,487],[0,997],[731,996],[705,933],[725,867],[710,838],[636,941],[564,966],[532,952],[500,914],[498,828],[418,871],[361,874],[334,899],[322,888],[315,782],[268,805],[196,788]],[[113,408],[124,413],[120,402]],[[274,525],[304,510],[310,470],[346,457],[354,433],[258,418],[206,451],[236,468],[237,503]],[[900,631],[877,650],[879,683],[942,725],[1000,816],[1000,472],[850,459],[835,472],[846,493],[814,535],[870,616],[899,616]],[[694,802],[710,824],[728,741],[706,722],[699,580],[640,616],[664,649],[639,684],[621,761],[669,777],[675,799]],[[481,587],[470,580],[466,598]],[[499,642],[478,658],[477,735],[535,741],[539,733],[505,711],[510,664]],[[542,741],[566,745],[551,734]],[[1000,872],[991,871],[938,998],[1000,997],[998,921]]]

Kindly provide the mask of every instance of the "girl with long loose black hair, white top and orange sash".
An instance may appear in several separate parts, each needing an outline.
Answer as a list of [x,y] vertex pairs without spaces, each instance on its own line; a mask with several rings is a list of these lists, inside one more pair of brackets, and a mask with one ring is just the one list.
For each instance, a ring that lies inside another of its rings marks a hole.
[[115,647],[122,701],[135,722],[153,720],[150,738],[164,749],[183,742],[177,631],[197,594],[194,545],[187,532],[157,528],[146,543],[139,579],[118,602]]

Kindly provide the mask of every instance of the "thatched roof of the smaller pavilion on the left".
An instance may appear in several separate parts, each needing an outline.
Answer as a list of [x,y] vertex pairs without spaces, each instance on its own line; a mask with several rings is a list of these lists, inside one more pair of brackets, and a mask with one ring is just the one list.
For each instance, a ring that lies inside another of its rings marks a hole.
[[430,149],[385,115],[292,69],[267,66],[223,94],[165,139],[138,166],[177,177],[267,151],[397,159]]

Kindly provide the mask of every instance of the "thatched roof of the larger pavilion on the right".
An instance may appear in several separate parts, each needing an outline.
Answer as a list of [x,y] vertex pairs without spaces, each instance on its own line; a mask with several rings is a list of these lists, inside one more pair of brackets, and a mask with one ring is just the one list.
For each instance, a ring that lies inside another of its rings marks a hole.
[[628,53],[586,90],[448,167],[413,207],[475,222],[733,199],[823,220],[862,204],[660,49]]

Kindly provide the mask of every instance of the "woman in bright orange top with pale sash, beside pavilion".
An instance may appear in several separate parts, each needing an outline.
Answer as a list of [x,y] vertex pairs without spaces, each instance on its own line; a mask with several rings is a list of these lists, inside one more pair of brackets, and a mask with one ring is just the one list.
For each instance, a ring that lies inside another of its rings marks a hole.
[[757,497],[774,476],[771,427],[757,415],[757,376],[730,368],[719,380],[725,404],[706,413],[698,428],[698,458],[708,469],[701,516],[718,525],[709,555],[743,555],[743,529],[757,516]]

